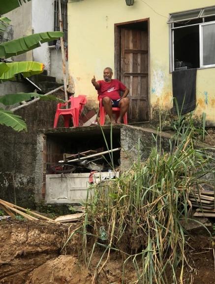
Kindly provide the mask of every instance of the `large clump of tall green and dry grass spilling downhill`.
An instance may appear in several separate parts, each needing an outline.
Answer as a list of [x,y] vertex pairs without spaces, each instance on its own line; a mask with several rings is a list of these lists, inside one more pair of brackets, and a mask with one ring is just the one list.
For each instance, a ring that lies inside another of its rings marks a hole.
[[[186,273],[190,265],[182,224],[189,218],[189,192],[208,173],[211,160],[203,149],[195,149],[196,131],[192,117],[186,125],[179,117],[169,152],[162,150],[161,139],[156,138],[146,161],[141,161],[139,150],[136,162],[120,178],[94,185],[82,231],[88,266],[95,246],[104,247],[94,278],[115,249],[124,255],[123,276],[132,260],[134,283],[183,284],[185,275],[187,283],[192,283],[191,274]],[[87,245],[87,234],[93,234],[92,247]]]

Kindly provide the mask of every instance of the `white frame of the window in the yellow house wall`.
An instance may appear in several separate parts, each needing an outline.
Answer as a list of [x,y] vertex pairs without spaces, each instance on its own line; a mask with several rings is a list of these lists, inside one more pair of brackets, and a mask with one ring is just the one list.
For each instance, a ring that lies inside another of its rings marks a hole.
[[[171,13],[169,14],[169,18],[167,23],[169,24],[169,63],[170,63],[170,73],[175,71],[175,66],[174,66],[174,59],[175,59],[175,54],[174,54],[174,30],[176,29],[185,29],[186,27],[191,27],[191,26],[199,26],[199,68],[197,69],[207,69],[207,68],[215,68],[215,64],[211,64],[211,65],[203,65],[203,39],[202,39],[202,27],[204,25],[210,25],[210,24],[215,24],[215,21],[211,21],[211,22],[205,22],[205,18],[208,17],[213,17],[215,16],[215,14],[211,14],[211,15],[207,15],[207,16],[202,16],[202,14],[204,13],[205,9],[208,8],[215,8],[215,6],[210,6],[210,7],[204,7],[204,8],[199,8],[199,9],[193,9],[193,10],[187,10],[187,11],[183,11],[183,12],[178,12],[178,13]],[[187,20],[179,20],[179,21],[170,21],[171,16],[174,14],[183,14],[186,12],[191,12],[191,11],[198,11],[201,10],[198,17],[195,18],[189,18]],[[196,24],[191,24],[191,25],[187,25],[187,26],[180,26],[180,27],[174,27],[174,23],[179,24],[180,22],[184,22],[184,21],[190,21],[193,19],[202,19],[202,23],[196,23]]]

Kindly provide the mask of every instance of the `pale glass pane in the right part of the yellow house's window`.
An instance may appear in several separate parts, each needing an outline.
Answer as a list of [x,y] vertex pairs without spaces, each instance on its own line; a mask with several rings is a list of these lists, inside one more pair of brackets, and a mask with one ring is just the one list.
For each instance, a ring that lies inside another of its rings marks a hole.
[[202,26],[203,65],[215,64],[215,23]]

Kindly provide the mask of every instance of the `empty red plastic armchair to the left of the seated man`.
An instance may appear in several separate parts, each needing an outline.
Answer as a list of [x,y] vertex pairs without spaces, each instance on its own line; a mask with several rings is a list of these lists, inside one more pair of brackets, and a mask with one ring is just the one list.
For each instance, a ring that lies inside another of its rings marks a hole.
[[[56,128],[58,125],[58,119],[60,115],[63,115],[64,127],[69,127],[70,118],[72,118],[73,120],[74,127],[79,126],[79,116],[84,108],[84,105],[87,103],[86,97],[87,96],[85,95],[79,95],[75,98],[71,96],[68,102],[64,104],[58,104],[55,113],[54,128]],[[68,108],[61,108],[67,105],[69,106]]]

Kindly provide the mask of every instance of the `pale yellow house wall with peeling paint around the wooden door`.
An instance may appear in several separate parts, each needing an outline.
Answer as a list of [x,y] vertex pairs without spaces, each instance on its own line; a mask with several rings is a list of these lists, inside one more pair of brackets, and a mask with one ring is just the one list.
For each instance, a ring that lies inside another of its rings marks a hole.
[[[97,100],[92,76],[102,79],[103,69],[114,70],[114,24],[150,18],[150,103],[172,107],[172,75],[169,73],[169,13],[215,5],[214,0],[69,0],[69,72],[76,95]],[[207,113],[215,125],[215,68],[197,71],[196,113]],[[207,100],[206,100],[207,97]],[[207,102],[206,102],[207,101]]]

